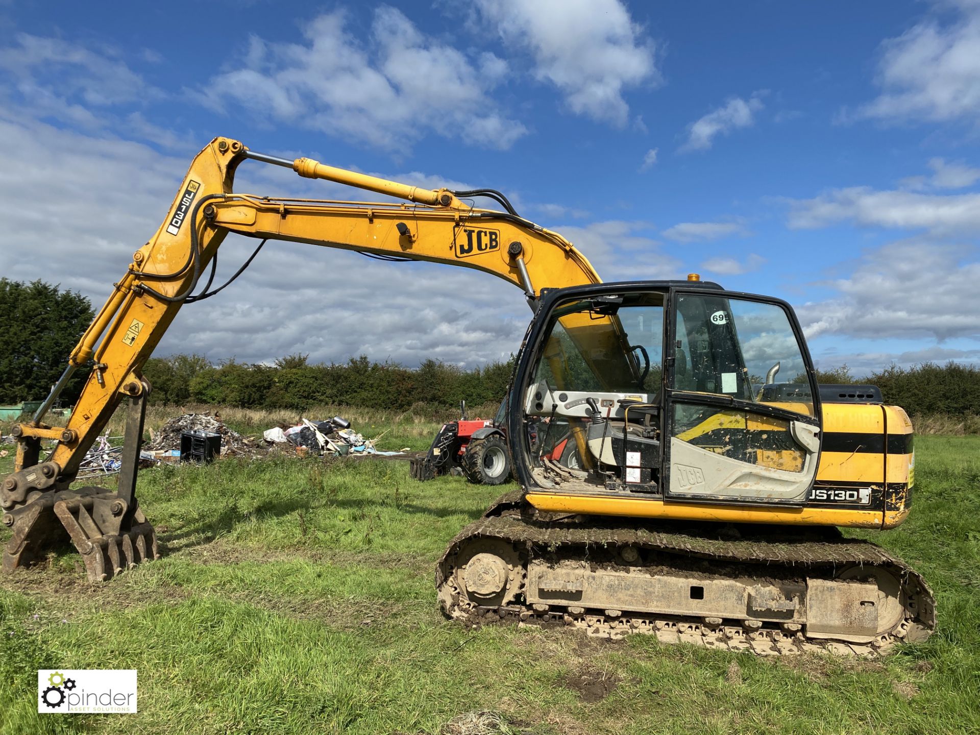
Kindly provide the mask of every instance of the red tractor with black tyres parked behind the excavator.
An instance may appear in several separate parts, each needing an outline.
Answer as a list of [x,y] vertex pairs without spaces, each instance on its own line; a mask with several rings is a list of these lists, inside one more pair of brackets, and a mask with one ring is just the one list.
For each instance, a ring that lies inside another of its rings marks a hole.
[[493,420],[466,418],[466,401],[461,405],[462,418],[444,423],[432,440],[425,457],[412,461],[412,476],[429,480],[439,474],[463,474],[470,482],[500,485],[511,477],[511,455],[504,435],[502,402]]

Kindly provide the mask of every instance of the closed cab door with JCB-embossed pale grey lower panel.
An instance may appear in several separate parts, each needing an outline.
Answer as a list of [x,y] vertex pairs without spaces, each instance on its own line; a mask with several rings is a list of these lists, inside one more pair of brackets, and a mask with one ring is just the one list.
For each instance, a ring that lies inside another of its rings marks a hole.
[[664,498],[802,504],[816,476],[821,418],[790,306],[675,291],[667,322]]

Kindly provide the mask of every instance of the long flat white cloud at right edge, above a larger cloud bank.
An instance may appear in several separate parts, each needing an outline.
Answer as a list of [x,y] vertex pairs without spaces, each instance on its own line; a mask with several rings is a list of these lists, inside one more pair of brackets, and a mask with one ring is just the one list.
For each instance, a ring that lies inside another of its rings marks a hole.
[[794,229],[814,229],[842,221],[933,232],[975,230],[980,227],[980,194],[922,194],[853,186],[790,202],[788,223]]

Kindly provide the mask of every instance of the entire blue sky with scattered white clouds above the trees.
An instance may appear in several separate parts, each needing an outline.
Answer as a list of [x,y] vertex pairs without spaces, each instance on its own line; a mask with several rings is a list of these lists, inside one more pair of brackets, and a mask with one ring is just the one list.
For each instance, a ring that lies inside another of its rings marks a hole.
[[[500,189],[607,281],[783,298],[819,368],[980,362],[980,0],[0,0],[0,276],[101,305],[218,135]],[[270,242],[156,354],[471,368],[529,318],[478,271]]]

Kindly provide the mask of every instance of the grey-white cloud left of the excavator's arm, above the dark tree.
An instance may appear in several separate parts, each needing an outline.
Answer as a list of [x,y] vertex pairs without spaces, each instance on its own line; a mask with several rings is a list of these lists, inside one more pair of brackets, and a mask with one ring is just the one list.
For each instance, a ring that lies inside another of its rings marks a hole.
[[[15,120],[16,118],[16,120]],[[190,163],[0,112],[3,274],[43,278],[101,306],[132,253],[160,226]],[[45,264],[45,265],[40,265]]]

